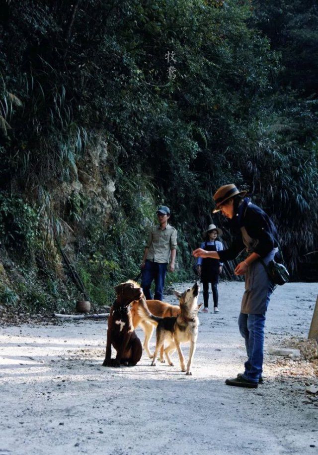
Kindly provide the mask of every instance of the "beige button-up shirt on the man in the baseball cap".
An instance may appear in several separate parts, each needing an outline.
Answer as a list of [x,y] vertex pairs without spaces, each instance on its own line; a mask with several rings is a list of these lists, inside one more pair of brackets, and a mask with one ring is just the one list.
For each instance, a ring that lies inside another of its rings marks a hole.
[[164,263],[169,262],[171,249],[177,247],[177,231],[172,226],[160,229],[160,226],[153,226],[149,233],[147,248],[149,248],[147,259],[149,261]]

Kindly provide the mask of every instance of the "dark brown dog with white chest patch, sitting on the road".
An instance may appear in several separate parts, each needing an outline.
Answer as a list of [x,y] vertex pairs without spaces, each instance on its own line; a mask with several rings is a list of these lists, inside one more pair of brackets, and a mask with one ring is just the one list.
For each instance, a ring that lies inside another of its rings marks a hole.
[[[143,352],[141,341],[134,331],[130,304],[139,300],[140,306],[149,320],[158,322],[160,318],[153,316],[146,303],[142,288],[134,281],[127,281],[115,286],[116,300],[110,309],[108,318],[106,354],[103,366],[136,365]],[[116,357],[111,358],[111,346],[116,351]]]

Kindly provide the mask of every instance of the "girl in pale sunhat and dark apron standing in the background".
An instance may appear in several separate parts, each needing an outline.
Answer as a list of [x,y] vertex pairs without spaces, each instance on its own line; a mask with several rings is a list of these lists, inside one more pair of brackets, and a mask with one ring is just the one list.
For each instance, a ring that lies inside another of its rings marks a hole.
[[[222,235],[222,230],[217,228],[215,225],[210,225],[204,232],[205,241],[201,244],[201,248],[206,251],[221,251],[223,250],[223,244],[217,237]],[[204,309],[203,313],[209,313],[209,283],[211,283],[214,313],[219,313],[218,302],[219,292],[218,284],[219,277],[222,272],[223,263],[219,259],[212,259],[211,257],[198,257],[198,274],[201,278],[203,285],[203,301]]]

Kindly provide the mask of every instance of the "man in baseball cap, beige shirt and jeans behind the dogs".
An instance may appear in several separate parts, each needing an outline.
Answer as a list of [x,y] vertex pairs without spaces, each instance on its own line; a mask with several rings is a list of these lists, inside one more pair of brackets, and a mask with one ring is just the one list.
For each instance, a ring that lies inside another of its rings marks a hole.
[[170,259],[169,271],[174,272],[174,261],[177,247],[177,231],[168,224],[170,210],[159,206],[157,210],[159,225],[153,226],[149,233],[141,264],[142,281],[146,299],[153,298],[151,284],[155,280],[155,300],[162,300],[165,273]]

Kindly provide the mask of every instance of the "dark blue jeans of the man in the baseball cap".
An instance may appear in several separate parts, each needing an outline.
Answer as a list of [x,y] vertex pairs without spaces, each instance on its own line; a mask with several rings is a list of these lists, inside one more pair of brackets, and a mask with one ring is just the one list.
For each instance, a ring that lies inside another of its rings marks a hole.
[[161,264],[159,262],[146,261],[145,267],[142,269],[141,287],[144,290],[147,300],[152,300],[153,298],[150,291],[153,280],[155,280],[155,300],[163,299],[163,286],[167,265],[167,262]]

